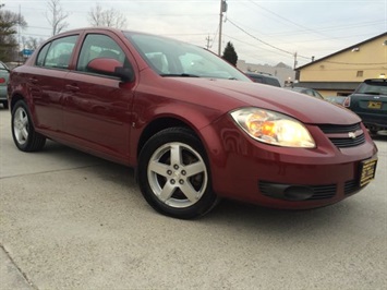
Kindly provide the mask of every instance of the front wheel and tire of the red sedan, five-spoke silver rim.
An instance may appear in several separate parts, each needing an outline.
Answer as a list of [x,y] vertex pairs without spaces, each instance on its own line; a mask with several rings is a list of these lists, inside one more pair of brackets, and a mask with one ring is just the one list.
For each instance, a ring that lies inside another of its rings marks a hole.
[[183,128],[162,130],[148,140],[140,154],[138,182],[149,205],[167,216],[199,217],[217,202],[204,147]]

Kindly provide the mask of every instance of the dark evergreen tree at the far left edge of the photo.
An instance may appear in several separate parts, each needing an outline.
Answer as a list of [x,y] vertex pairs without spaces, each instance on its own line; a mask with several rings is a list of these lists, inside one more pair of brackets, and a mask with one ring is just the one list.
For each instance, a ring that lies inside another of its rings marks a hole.
[[4,4],[0,4],[0,60],[2,61],[12,61],[17,56],[17,25],[24,28],[27,23],[22,15],[4,10]]

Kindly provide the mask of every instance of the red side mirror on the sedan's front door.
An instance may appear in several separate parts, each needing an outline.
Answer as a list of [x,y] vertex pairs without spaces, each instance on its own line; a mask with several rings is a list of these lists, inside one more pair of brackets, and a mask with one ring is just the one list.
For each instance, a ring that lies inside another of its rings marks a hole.
[[133,82],[134,73],[132,68],[123,68],[122,63],[116,59],[97,58],[87,64],[87,70],[111,76],[118,76],[123,82]]

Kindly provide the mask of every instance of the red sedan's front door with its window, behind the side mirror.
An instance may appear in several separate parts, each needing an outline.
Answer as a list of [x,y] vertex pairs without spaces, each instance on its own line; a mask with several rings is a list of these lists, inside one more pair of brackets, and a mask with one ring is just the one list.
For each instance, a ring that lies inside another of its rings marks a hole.
[[86,35],[75,71],[64,85],[64,131],[68,138],[96,154],[129,158],[133,88],[114,76],[87,70],[95,58],[114,58],[128,65],[128,58],[111,37]]

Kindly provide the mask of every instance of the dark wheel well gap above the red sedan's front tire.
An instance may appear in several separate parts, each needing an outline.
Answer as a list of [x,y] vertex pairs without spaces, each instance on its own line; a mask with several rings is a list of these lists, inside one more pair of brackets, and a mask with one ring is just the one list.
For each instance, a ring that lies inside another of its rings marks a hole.
[[179,119],[173,119],[173,118],[161,118],[161,119],[157,119],[154,120],[153,122],[150,122],[146,129],[144,130],[144,132],[141,135],[140,142],[138,142],[138,146],[137,146],[137,156],[140,155],[142,148],[144,147],[145,143],[153,136],[155,135],[157,132],[168,129],[168,128],[172,128],[172,126],[181,126],[181,128],[185,128],[191,130],[195,135],[195,131],[192,130],[192,128],[184,123],[183,121],[179,120]]

